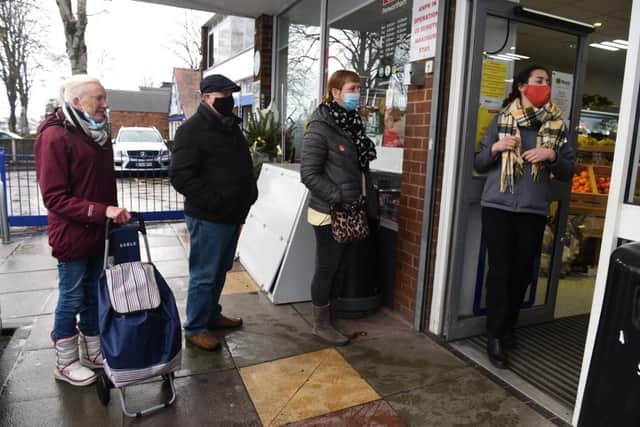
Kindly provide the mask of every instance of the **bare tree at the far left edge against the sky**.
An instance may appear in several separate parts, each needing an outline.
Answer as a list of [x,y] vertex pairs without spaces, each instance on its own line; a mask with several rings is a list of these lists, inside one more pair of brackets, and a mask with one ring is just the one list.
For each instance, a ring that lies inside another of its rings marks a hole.
[[[5,84],[9,101],[9,129],[29,132],[27,110],[29,94],[36,70],[35,56],[42,48],[36,39],[35,6],[29,0],[0,1],[0,78]],[[20,126],[17,126],[16,106],[20,101]]]

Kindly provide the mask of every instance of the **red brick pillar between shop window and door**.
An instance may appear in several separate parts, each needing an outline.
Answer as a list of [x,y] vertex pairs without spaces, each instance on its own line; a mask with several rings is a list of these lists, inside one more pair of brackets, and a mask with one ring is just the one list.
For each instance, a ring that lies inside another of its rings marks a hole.
[[[449,83],[452,53],[453,17],[455,2],[451,2],[449,11],[449,31],[446,49],[446,70],[442,85],[443,111],[441,112],[442,129],[446,129],[446,112],[448,105]],[[422,238],[422,217],[424,212],[425,180],[427,168],[427,144],[429,140],[429,123],[431,120],[431,100],[433,75],[425,77],[423,87],[410,86],[407,105],[407,125],[404,141],[404,158],[402,164],[402,181],[400,186],[400,207],[398,211],[398,249],[396,258],[396,277],[394,285],[393,309],[406,320],[413,323],[416,309],[416,292],[418,287],[418,268],[420,259],[420,240]],[[435,212],[432,226],[430,252],[427,254],[429,277],[425,291],[425,304],[428,314],[433,292],[433,265],[438,233],[440,210],[440,194],[442,189],[442,165],[444,159],[444,131],[440,135],[438,161],[436,162]]]

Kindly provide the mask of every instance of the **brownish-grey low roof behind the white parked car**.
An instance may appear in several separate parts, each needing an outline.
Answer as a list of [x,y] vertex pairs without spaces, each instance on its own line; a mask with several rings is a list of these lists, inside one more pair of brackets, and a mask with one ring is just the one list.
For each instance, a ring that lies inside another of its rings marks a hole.
[[107,101],[111,111],[167,113],[169,95],[169,88],[107,89]]

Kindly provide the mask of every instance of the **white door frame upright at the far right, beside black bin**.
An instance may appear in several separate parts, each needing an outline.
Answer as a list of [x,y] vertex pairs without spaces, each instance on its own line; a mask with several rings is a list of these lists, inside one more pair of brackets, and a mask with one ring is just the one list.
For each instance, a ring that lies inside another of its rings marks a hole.
[[[633,2],[630,23],[640,21],[640,3]],[[611,169],[611,191],[607,200],[607,211],[604,221],[604,232],[600,246],[600,260],[596,287],[591,305],[591,317],[587,330],[585,353],[578,384],[578,395],[573,412],[573,425],[579,425],[582,398],[591,364],[591,356],[595,345],[596,334],[600,323],[600,313],[607,286],[609,257],[618,246],[619,239],[640,241],[640,205],[628,203],[627,194],[633,192],[636,182],[630,177],[631,168],[638,167],[638,150],[640,150],[640,26],[629,25],[629,48],[624,69],[618,133]],[[634,146],[636,153],[634,155]],[[633,194],[633,193],[631,193]]]

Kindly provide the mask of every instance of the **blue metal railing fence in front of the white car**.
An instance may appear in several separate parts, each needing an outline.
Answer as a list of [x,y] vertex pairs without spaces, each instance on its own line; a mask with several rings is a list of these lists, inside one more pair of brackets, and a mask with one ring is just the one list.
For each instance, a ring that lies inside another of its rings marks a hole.
[[[0,179],[4,184],[11,227],[47,224],[47,210],[38,186],[33,144],[10,150],[0,147]],[[147,221],[184,218],[184,198],[169,182],[166,167],[147,168],[139,163],[117,176],[118,204],[142,212]]]

